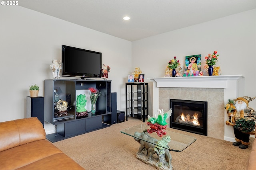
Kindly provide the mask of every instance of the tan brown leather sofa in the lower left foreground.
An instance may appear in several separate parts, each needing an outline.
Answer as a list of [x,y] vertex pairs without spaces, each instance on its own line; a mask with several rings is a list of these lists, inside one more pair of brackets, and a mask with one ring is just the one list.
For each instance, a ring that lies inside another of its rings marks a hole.
[[37,117],[0,123],[0,170],[84,170],[52,145]]

